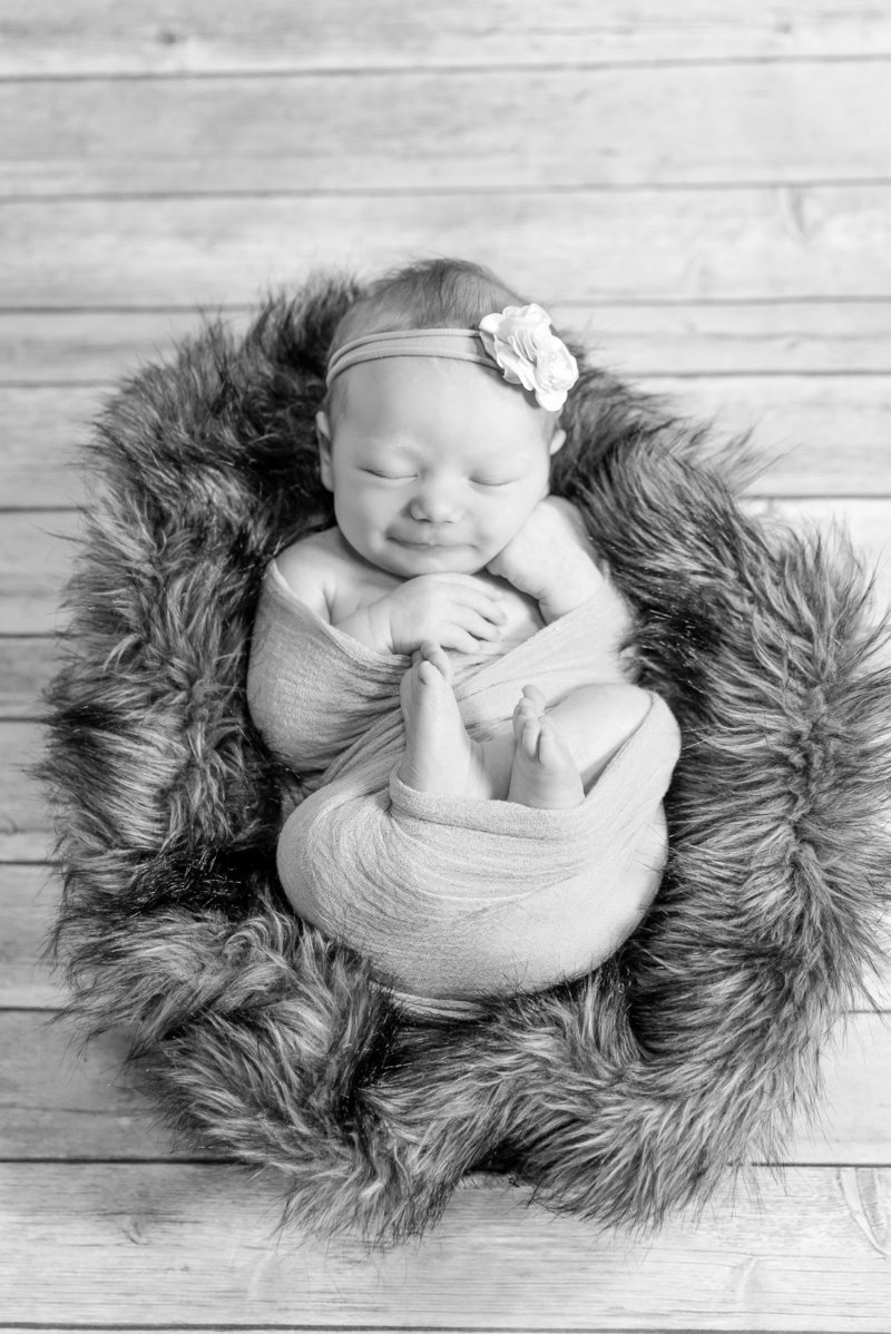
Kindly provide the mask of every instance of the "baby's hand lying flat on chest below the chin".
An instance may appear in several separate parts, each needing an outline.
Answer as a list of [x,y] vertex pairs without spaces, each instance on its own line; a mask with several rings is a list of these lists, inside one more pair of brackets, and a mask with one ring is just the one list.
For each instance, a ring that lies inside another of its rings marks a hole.
[[507,620],[496,588],[472,575],[417,575],[368,607],[372,634],[388,652],[412,654],[425,640],[479,652],[499,639]]

